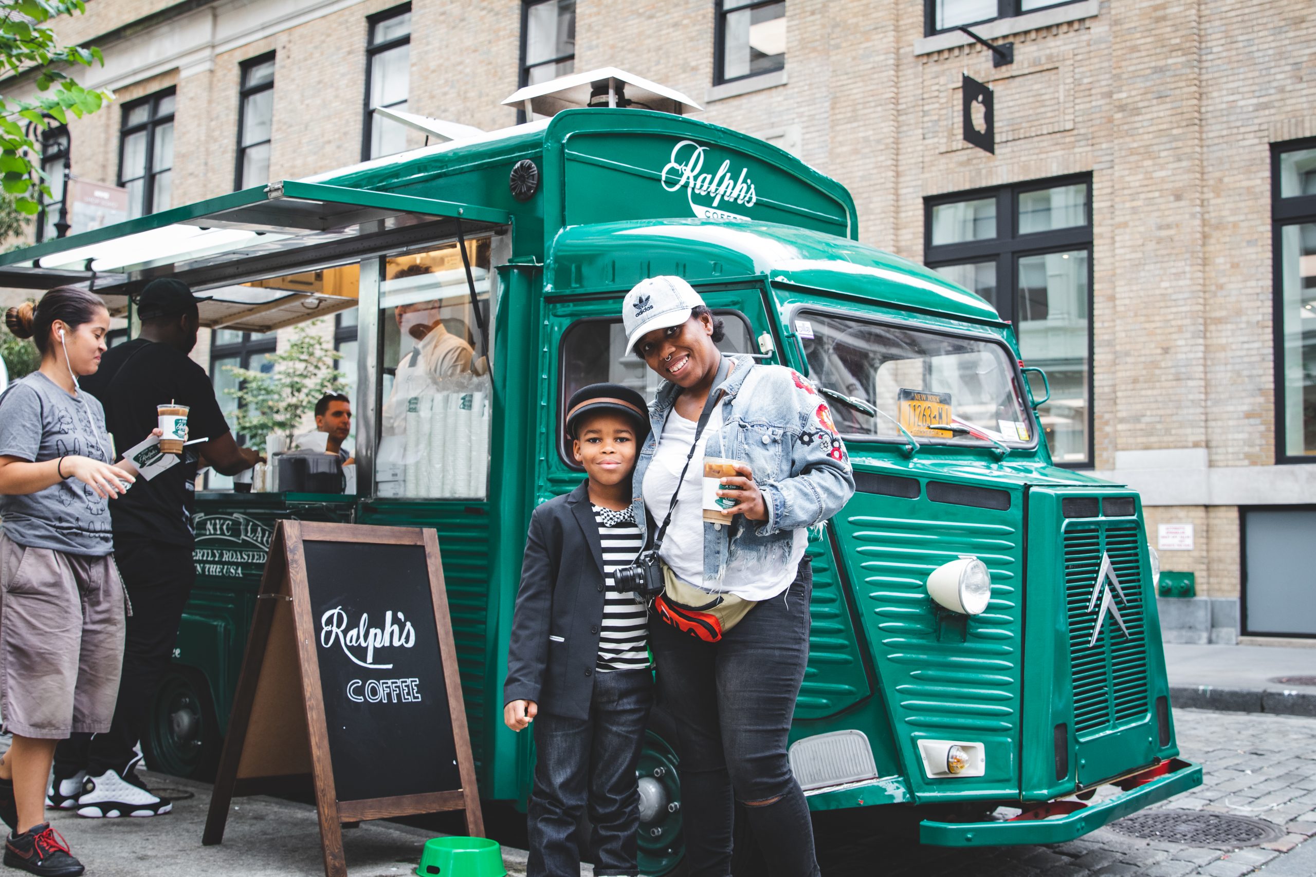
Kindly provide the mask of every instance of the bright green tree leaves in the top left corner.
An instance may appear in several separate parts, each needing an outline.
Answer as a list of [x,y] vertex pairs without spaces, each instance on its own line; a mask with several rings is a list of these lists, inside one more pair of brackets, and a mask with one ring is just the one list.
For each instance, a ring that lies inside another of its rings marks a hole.
[[82,118],[95,113],[111,97],[109,92],[83,88],[58,70],[105,64],[100,49],[61,46],[55,32],[45,26],[55,16],[83,12],[83,0],[0,0],[0,70],[11,76],[34,75],[42,92],[32,101],[0,95],[0,189],[26,216],[41,209],[38,193],[51,197],[45,174],[32,160],[41,151],[32,131],[49,128],[51,120],[67,125],[70,114]]

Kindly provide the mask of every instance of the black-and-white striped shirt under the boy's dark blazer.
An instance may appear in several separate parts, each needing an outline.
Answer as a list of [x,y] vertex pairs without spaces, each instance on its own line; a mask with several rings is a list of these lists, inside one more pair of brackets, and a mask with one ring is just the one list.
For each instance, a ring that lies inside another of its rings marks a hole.
[[650,667],[649,613],[636,600],[633,590],[612,589],[612,572],[629,567],[645,547],[645,536],[636,526],[632,510],[615,511],[594,508],[599,523],[599,542],[603,547],[604,604],[603,625],[599,628],[599,657],[595,669],[633,671]]

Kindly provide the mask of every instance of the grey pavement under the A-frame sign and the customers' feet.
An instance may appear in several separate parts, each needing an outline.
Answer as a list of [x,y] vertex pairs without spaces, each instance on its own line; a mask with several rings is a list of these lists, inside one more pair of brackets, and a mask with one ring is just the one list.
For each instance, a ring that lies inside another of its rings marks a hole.
[[[224,843],[203,847],[211,786],[142,773],[161,794],[178,794],[174,813],[150,819],[84,819],[71,811],[46,811],[87,865],[87,877],[324,877],[313,806],[265,795],[234,798]],[[392,822],[349,828],[342,832],[347,873],[408,877],[433,836]],[[503,848],[508,877],[525,876],[525,851]],[[587,866],[582,874],[592,870]]]

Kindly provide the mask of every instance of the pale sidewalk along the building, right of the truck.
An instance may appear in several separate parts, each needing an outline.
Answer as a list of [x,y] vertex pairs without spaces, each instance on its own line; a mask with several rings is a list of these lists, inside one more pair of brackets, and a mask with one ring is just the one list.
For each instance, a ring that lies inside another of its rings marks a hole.
[[1277,681],[1316,680],[1316,648],[1167,643],[1165,661],[1177,707],[1316,717],[1316,685]]

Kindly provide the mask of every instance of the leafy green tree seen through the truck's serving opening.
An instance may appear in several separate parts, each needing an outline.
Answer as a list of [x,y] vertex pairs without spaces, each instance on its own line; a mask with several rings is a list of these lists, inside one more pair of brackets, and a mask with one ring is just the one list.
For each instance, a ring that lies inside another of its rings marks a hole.
[[238,400],[238,433],[258,443],[271,433],[280,434],[291,447],[293,433],[321,396],[347,392],[347,379],[334,366],[338,351],[308,331],[320,322],[300,326],[284,350],[266,358],[274,363],[270,373],[224,367],[240,381],[237,389],[224,391]]

